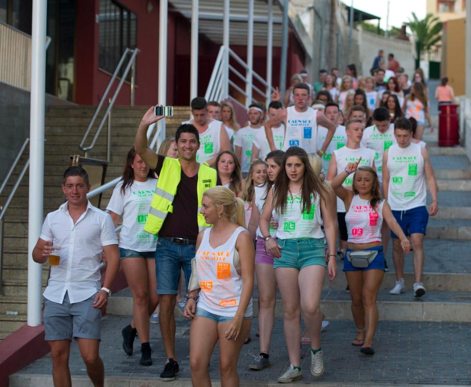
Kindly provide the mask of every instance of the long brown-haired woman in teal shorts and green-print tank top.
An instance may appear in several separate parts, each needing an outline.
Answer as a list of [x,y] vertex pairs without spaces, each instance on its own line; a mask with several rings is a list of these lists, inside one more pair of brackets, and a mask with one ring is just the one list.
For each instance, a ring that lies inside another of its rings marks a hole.
[[[273,210],[279,216],[278,240],[270,235],[269,230]],[[278,378],[280,383],[302,378],[301,311],[306,323],[306,336],[311,338],[311,373],[314,376],[324,373],[320,346],[320,295],[327,262],[322,222],[329,245],[328,270],[332,281],[337,267],[336,256],[332,254],[335,252],[336,226],[330,195],[314,172],[306,151],[290,147],[283,158],[274,189],[268,192],[260,218],[266,250],[276,258],[273,267],[283,301],[285,338],[291,363]]]

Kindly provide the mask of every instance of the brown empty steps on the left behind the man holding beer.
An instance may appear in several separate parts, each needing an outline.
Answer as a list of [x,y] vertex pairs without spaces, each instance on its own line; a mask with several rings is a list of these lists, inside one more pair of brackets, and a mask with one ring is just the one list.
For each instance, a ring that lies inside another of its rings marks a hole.
[[[106,181],[123,172],[125,157],[134,142],[134,135],[147,106],[116,106],[112,115],[112,157],[108,164]],[[78,149],[82,135],[95,112],[94,106],[53,106],[46,113],[44,217],[57,209],[65,198],[60,185],[62,174],[69,163],[69,156],[83,155]],[[187,107],[175,107],[175,116],[167,120],[167,134],[175,133],[180,122],[188,119]],[[101,117],[101,116],[99,116]],[[99,120],[97,120],[99,121]],[[92,131],[94,134],[94,131]],[[92,136],[90,136],[91,138]],[[10,193],[28,152],[20,161],[3,195],[0,205]],[[106,158],[106,128],[96,142],[90,157]],[[101,208],[104,209],[112,190],[104,193]],[[27,236],[28,236],[28,174],[23,178],[5,216],[3,243],[3,288],[0,295],[0,340],[26,323],[27,296]],[[47,283],[49,266],[43,265],[43,287]],[[18,314],[6,314],[7,311]]]

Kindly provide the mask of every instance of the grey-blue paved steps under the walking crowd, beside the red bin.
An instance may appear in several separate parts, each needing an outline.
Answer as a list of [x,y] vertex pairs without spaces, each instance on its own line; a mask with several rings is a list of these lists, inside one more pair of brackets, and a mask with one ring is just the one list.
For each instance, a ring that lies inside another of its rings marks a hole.
[[[471,164],[461,147],[439,148],[436,133],[425,136],[434,172],[439,185],[439,212],[430,217],[425,237],[423,282],[427,293],[415,299],[412,254],[406,258],[407,291],[392,296],[395,273],[392,244],[387,260],[391,271],[385,274],[378,294],[381,320],[471,322]],[[427,203],[431,202],[428,194]],[[350,319],[350,296],[344,291],[347,283],[338,262],[338,276],[330,282],[326,276],[322,293],[322,310],[328,319]],[[131,315],[129,289],[111,296],[108,314]],[[257,291],[254,313],[257,315]],[[180,313],[180,310],[176,310]],[[283,317],[281,297],[277,297],[276,317]]]

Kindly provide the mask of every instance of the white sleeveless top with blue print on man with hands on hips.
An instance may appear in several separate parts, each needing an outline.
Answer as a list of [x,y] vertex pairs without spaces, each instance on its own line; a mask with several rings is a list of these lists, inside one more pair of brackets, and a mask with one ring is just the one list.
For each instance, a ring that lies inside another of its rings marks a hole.
[[283,151],[291,146],[301,147],[308,154],[317,151],[317,110],[308,107],[300,112],[295,106],[287,109],[287,125]]

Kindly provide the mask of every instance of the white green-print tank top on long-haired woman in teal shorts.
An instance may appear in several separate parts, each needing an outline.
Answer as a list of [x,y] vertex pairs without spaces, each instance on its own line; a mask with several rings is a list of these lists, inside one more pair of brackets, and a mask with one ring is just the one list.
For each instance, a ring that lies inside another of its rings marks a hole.
[[300,197],[292,197],[288,192],[285,211],[280,213],[276,236],[279,239],[297,238],[323,238],[320,229],[322,219],[320,217],[319,195],[311,195],[311,211],[304,211]]

